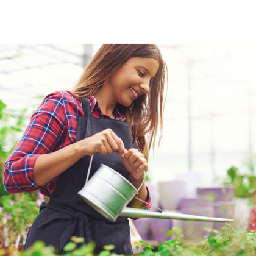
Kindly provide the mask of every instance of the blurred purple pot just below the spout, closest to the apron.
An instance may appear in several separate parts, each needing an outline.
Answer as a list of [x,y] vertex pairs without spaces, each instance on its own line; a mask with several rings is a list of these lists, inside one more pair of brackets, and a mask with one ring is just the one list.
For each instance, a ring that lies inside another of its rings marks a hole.
[[155,241],[168,241],[166,233],[172,229],[172,219],[151,219],[151,232]]

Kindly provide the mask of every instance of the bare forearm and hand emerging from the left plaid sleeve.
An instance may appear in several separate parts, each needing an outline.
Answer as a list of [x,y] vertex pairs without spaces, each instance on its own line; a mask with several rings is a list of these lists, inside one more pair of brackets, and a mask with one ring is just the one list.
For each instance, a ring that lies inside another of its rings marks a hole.
[[69,144],[58,151],[39,155],[33,169],[35,184],[46,185],[85,155],[91,156],[96,152],[107,155],[117,151],[118,154],[124,155],[124,150],[123,141],[113,130],[102,130],[102,132]]

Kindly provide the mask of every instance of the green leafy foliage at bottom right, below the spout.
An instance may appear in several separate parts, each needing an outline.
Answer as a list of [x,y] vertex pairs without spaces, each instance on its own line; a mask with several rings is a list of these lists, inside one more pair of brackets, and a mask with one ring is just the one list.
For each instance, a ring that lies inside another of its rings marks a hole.
[[[154,247],[145,243],[141,256],[223,256],[223,255],[255,255],[256,233],[237,232],[229,224],[222,227],[223,232],[218,232],[209,226],[205,230],[212,231],[212,235],[199,243],[183,243],[183,241],[166,241],[154,251]],[[167,235],[167,234],[166,234]]]

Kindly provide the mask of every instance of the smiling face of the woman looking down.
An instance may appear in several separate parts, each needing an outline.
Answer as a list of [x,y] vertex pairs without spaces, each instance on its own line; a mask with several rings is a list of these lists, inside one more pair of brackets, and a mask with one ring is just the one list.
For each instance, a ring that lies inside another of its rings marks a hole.
[[149,93],[149,85],[159,68],[153,58],[131,57],[113,74],[105,84],[115,103],[128,107],[132,101]]

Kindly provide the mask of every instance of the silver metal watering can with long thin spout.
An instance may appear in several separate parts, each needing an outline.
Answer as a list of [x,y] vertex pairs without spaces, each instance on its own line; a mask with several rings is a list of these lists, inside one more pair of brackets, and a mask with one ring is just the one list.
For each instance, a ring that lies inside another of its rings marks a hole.
[[91,156],[85,185],[78,194],[94,210],[110,221],[115,222],[118,216],[124,216],[130,218],[179,219],[183,221],[234,222],[233,219],[171,212],[151,212],[149,210],[126,207],[143,185],[146,177],[145,172],[143,182],[138,190],[121,174],[103,164],[88,181],[92,160],[93,155]]

